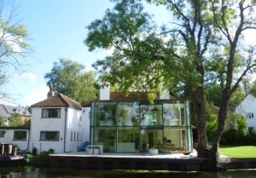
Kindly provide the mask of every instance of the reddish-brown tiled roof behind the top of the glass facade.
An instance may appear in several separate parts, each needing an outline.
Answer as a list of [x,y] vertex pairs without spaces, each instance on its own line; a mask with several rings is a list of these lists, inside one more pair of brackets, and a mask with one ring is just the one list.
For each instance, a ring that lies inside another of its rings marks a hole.
[[[122,92],[110,92],[109,100],[148,100],[148,94],[150,92],[130,92],[129,95],[124,95]],[[156,96],[156,99],[159,98],[159,94]],[[96,98],[99,100],[99,98]],[[175,97],[170,95],[170,100],[175,100]],[[91,102],[94,100],[90,100],[82,104],[82,106],[90,106]]]

